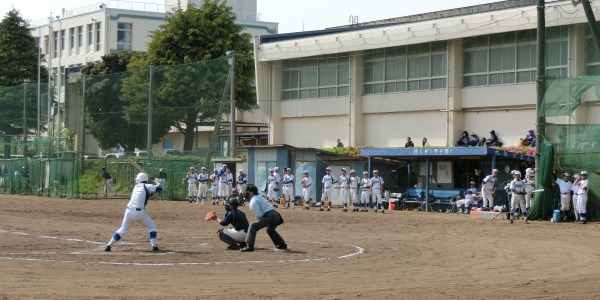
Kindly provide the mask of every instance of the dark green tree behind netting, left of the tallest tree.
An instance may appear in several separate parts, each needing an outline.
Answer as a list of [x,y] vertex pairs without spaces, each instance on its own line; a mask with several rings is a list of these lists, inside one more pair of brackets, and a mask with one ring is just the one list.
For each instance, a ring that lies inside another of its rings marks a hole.
[[[145,148],[147,143],[146,122],[130,122],[125,117],[129,105],[122,100],[123,83],[134,76],[127,72],[132,59],[141,59],[144,53],[117,52],[105,55],[102,60],[87,64],[81,72],[79,82],[83,88],[85,80],[86,127],[102,148],[112,148],[121,144],[128,152],[135,148]],[[144,98],[147,99],[146,92]],[[143,113],[147,118],[147,111]],[[153,126],[152,142],[157,143],[170,128],[171,122],[156,120]]]

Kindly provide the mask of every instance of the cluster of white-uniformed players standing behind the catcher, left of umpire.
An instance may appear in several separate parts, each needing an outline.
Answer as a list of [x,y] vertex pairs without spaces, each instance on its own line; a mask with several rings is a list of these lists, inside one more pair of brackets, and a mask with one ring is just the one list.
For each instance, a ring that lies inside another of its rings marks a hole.
[[[190,167],[189,172],[183,177],[183,181],[187,182],[188,185],[187,199],[190,203],[205,204],[209,187],[212,194],[212,205],[219,204],[219,200],[221,200],[222,205],[225,205],[227,199],[234,193],[233,174],[227,164],[223,164],[221,170],[214,169],[213,172],[209,175],[206,172],[206,167],[202,167],[200,173],[196,173],[196,169]],[[243,169],[238,170],[236,182],[235,193],[245,194],[248,181]]]

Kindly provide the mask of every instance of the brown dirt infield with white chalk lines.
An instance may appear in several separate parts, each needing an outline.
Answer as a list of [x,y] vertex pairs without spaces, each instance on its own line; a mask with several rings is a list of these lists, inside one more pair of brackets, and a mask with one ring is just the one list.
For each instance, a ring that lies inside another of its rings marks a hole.
[[140,226],[104,252],[126,203],[0,195],[0,299],[600,297],[596,223],[282,209],[291,250],[260,231],[240,253],[203,220],[214,206],[151,201],[161,252]]

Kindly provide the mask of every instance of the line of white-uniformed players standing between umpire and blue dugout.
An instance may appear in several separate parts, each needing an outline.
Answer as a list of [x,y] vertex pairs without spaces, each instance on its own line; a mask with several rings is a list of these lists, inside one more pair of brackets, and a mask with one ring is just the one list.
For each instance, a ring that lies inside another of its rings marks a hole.
[[[294,196],[294,175],[292,174],[291,168],[285,168],[283,176],[279,174],[279,167],[275,167],[269,170],[269,177],[267,177],[267,199],[270,203],[277,207],[278,202],[278,191],[281,187],[283,192],[284,207],[283,208],[295,208],[297,200],[302,200],[304,209],[310,209],[310,194],[313,187],[313,180],[309,175],[309,172],[305,170],[303,172],[300,184],[302,185],[302,197]],[[373,199],[373,207],[375,212],[380,208],[381,213],[384,213],[382,192],[383,192],[383,178],[379,176],[379,171],[373,171],[373,177],[369,178],[369,172],[364,171],[362,178],[356,175],[356,171],[350,170],[350,174],[345,168],[341,169],[341,174],[338,177],[334,177],[331,174],[331,168],[325,169],[325,175],[321,180],[321,204],[319,211],[330,211],[331,210],[331,195],[333,192],[334,184],[339,183],[340,198],[342,200],[342,211],[347,212],[349,206],[352,205],[353,212],[368,212],[369,208],[369,197]],[[360,192],[360,193],[359,193]]]

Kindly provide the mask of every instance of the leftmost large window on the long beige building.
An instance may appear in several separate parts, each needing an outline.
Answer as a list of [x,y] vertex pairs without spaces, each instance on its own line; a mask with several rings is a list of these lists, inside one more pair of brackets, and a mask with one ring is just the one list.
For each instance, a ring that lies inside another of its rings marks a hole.
[[349,83],[348,55],[325,55],[283,62],[283,100],[348,96]]

